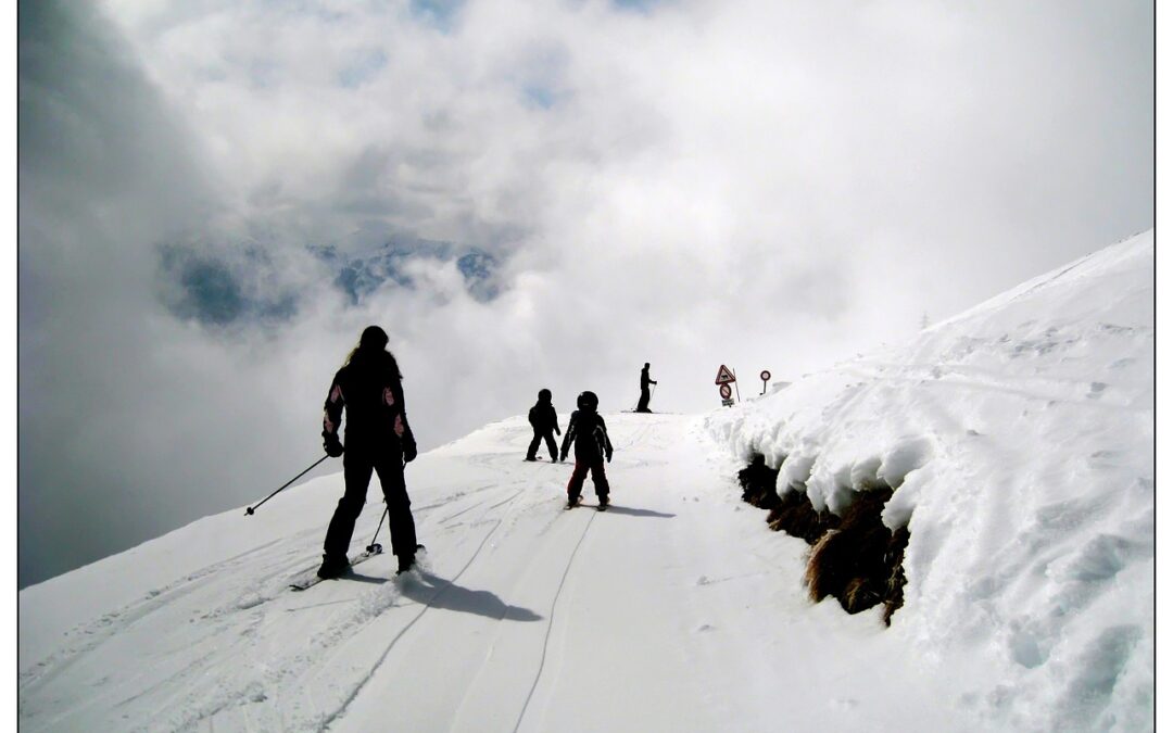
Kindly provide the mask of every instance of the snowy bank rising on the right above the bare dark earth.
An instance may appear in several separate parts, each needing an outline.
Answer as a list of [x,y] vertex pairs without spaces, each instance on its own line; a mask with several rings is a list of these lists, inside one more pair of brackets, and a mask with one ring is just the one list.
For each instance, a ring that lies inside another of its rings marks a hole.
[[816,508],[897,489],[893,633],[997,727],[1152,726],[1153,259],[1150,231],[707,420]]

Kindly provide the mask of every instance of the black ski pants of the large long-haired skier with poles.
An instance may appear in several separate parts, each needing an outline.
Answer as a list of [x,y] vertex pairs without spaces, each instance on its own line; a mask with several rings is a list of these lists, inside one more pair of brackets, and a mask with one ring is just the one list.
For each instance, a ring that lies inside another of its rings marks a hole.
[[382,496],[387,500],[387,528],[391,530],[391,550],[400,562],[415,556],[415,520],[412,518],[412,501],[407,497],[404,482],[404,464],[394,452],[378,453],[347,450],[343,457],[343,475],[346,493],[338,500],[334,517],[326,530],[326,557],[346,557],[354,535],[354,522],[366,503],[366,490],[371,483],[371,471],[379,474]]

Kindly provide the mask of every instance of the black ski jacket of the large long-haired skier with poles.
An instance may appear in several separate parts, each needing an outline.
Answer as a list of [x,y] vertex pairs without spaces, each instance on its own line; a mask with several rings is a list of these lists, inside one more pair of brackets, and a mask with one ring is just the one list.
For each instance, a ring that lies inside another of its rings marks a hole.
[[407,422],[404,386],[391,354],[355,353],[338,369],[326,395],[321,436],[337,440],[338,426],[346,408],[346,447],[364,450],[387,449],[415,457],[415,436]]

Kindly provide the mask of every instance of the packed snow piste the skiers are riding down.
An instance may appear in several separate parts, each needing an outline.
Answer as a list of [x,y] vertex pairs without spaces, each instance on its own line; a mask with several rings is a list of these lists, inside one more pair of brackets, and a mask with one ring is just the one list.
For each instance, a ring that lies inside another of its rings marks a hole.
[[[386,554],[286,589],[334,475],[22,591],[21,728],[964,729],[877,612],[811,606],[805,544],[739,502],[699,418],[608,421],[606,513],[589,481],[563,510],[570,466],[523,462],[521,418],[421,456],[400,578]],[[881,664],[903,671],[859,674]]]

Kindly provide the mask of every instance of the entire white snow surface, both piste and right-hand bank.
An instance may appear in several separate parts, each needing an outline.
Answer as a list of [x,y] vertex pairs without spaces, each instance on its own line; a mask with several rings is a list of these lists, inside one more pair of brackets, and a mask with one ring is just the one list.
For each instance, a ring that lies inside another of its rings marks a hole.
[[[206,517],[20,591],[20,727],[1151,729],[1152,289],[1148,232],[759,400],[609,414],[606,513],[487,426],[408,466],[400,578],[286,588],[341,474]],[[754,453],[833,510],[896,489],[891,627],[807,599],[806,543],[739,501]]]

